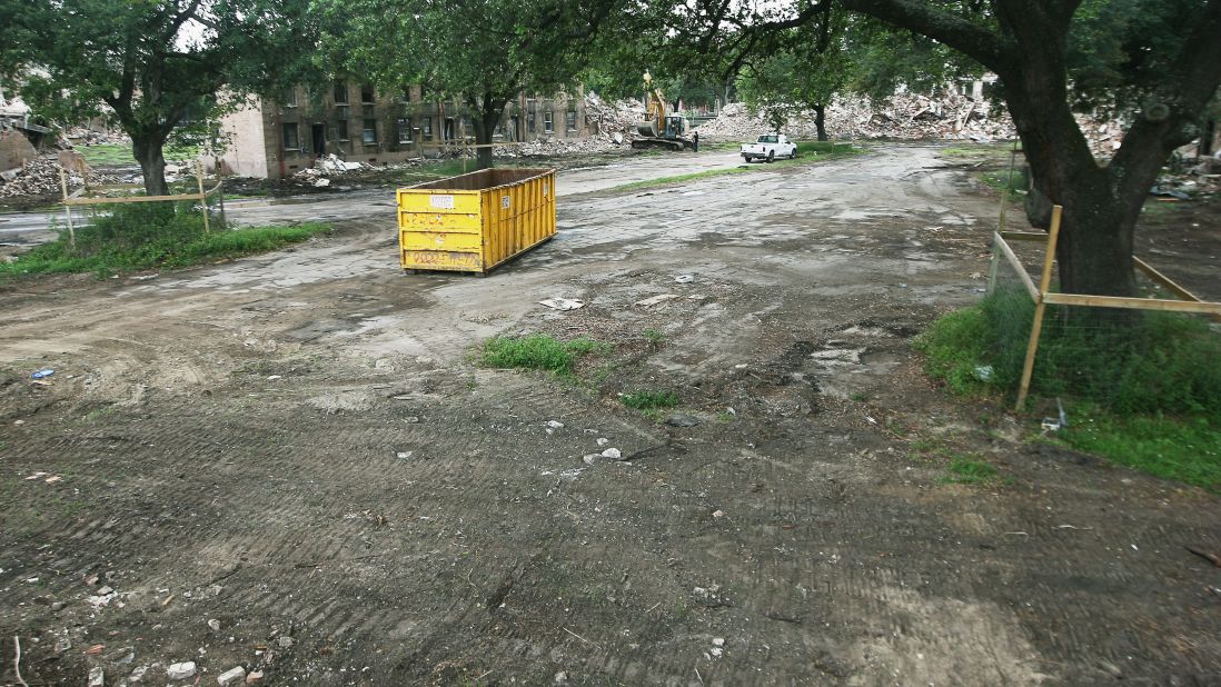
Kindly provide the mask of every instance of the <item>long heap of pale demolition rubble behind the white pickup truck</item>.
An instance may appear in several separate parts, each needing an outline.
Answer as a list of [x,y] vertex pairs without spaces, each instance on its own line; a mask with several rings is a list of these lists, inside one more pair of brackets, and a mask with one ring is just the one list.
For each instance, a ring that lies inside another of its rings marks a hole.
[[[1078,116],[1082,132],[1098,155],[1118,149],[1123,124]],[[1013,121],[985,99],[960,93],[928,96],[901,93],[872,103],[866,98],[836,99],[827,107],[824,123],[833,138],[962,139],[988,143],[1017,138]],[[698,127],[712,140],[746,140],[770,129],[764,112],[751,113],[742,104],[726,105],[716,120]],[[807,110],[789,118],[785,133],[796,139],[814,138],[814,112]]]

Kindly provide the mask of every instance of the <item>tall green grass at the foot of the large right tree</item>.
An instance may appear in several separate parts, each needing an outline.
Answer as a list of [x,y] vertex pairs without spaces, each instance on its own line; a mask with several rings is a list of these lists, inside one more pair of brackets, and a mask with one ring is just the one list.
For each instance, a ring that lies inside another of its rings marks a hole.
[[[928,372],[955,393],[1016,392],[1034,305],[999,292],[951,312],[916,342]],[[1101,320],[1099,320],[1101,317]],[[1068,426],[1056,434],[1151,475],[1221,492],[1221,336],[1201,318],[1049,310],[1032,392],[1060,398]],[[979,366],[991,370],[980,379]]]

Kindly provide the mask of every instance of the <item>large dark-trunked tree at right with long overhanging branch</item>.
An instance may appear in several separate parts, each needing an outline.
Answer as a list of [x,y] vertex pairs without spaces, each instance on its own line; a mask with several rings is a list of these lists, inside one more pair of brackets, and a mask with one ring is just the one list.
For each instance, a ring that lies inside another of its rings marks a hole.
[[[799,0],[651,5],[713,51],[753,54],[779,32],[849,11],[932,39],[999,76],[1037,196],[1063,206],[1066,292],[1134,295],[1133,231],[1170,154],[1197,135],[1221,83],[1221,0]],[[745,60],[745,57],[742,57]],[[1099,164],[1073,105],[1132,112],[1123,145]],[[1046,212],[1028,209],[1035,225]]]

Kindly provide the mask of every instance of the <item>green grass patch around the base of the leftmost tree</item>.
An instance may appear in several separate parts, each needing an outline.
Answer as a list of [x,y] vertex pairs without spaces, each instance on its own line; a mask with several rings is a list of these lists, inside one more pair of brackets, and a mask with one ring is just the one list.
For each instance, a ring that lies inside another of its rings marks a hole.
[[16,262],[0,265],[0,278],[28,275],[94,272],[110,276],[140,270],[175,270],[265,253],[328,232],[327,225],[248,227],[225,229],[215,223],[204,233],[203,215],[190,204],[100,206],[92,226],[76,232],[71,245],[66,232],[39,245]]

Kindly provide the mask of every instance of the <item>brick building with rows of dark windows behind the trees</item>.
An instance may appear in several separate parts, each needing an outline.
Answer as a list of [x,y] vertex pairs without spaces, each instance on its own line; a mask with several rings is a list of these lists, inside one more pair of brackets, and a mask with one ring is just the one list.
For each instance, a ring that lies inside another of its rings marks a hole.
[[[475,140],[464,107],[432,100],[420,85],[386,94],[369,84],[337,79],[328,90],[311,95],[294,88],[281,103],[258,99],[225,117],[221,129],[228,150],[221,162],[227,173],[278,179],[325,155],[379,165],[438,156],[447,145]],[[580,95],[521,95],[505,107],[493,142],[584,138],[590,133]]]

